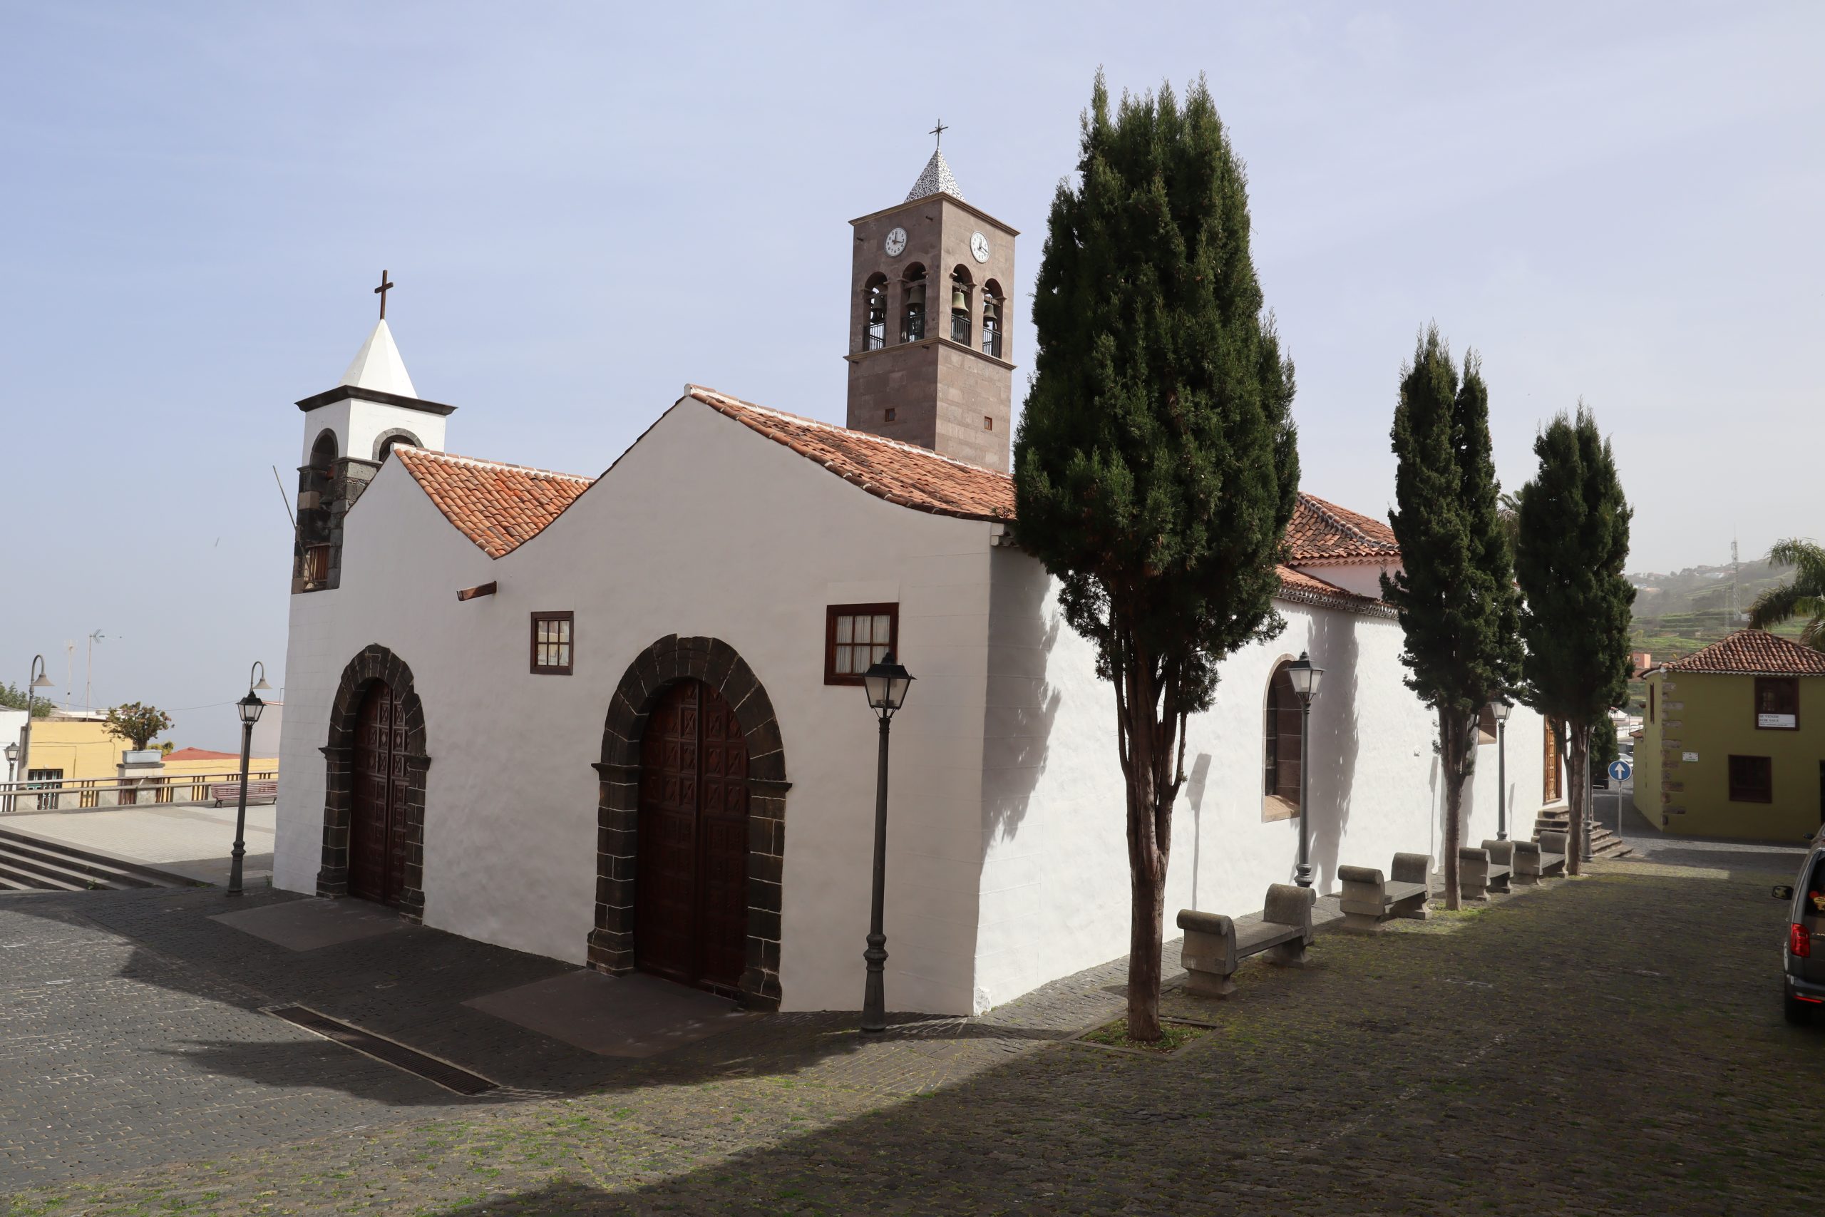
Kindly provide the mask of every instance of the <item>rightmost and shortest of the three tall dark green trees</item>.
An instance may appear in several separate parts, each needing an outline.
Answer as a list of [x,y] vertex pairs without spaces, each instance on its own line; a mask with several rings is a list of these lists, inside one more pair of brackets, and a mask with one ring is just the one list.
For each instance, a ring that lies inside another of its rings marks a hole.
[[1622,577],[1633,513],[1615,473],[1610,442],[1579,403],[1535,442],[1540,471],[1520,487],[1520,540],[1515,573],[1526,606],[1526,699],[1566,724],[1566,777],[1571,786],[1571,841],[1566,870],[1580,870],[1584,774],[1591,732],[1610,730],[1610,708],[1628,699],[1628,624],[1635,588]]

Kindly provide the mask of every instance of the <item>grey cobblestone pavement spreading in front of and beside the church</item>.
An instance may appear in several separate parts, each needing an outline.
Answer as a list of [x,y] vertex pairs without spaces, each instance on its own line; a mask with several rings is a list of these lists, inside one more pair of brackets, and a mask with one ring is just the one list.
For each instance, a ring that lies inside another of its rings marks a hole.
[[[157,1142],[184,1160],[117,1170],[89,1157],[75,1164],[86,1177],[46,1179],[75,1166],[57,1157],[64,1149],[33,1151],[40,1129],[24,1128],[9,1170],[26,1186],[4,1212],[1810,1212],[1825,1160],[1825,1027],[1781,1022],[1783,910],[1768,898],[1794,858],[1597,863],[1590,878],[1380,936],[1323,932],[1314,967],[1248,962],[1228,1004],[1172,994],[1173,1011],[1215,1027],[1163,1060],[1058,1042],[1121,1011],[1122,967],[1111,963],[978,1020],[909,1022],[865,1042],[845,1016],[776,1016],[644,1062],[589,1058],[597,1086],[586,1093],[460,1106],[334,1045],[297,1047],[270,1020],[257,1033],[237,1022],[265,1018],[250,1013],[256,989],[323,980],[305,974],[316,963],[270,974],[261,969],[283,969],[265,958],[237,983],[219,980],[234,960],[208,954],[212,934],[186,912],[197,894],[108,896],[106,907],[69,898],[58,907],[93,925],[35,914],[47,947],[64,936],[66,967],[46,951],[35,980],[0,998],[0,1051],[15,1053],[4,1102],[15,1102],[18,1053],[44,1075],[36,1087],[26,1080],[36,1097],[7,1108],[0,1128],[16,1137],[24,1111],[64,1128],[46,1146],[77,1131],[133,1142],[173,1118],[148,1093],[175,1087],[197,1106]],[[4,947],[16,905],[0,918]],[[423,940],[411,952],[396,943],[396,956],[447,951],[445,980],[434,965],[416,978],[434,993],[350,989],[367,1004],[338,1013],[392,1018],[414,1044],[420,1029],[442,1029],[445,1047],[433,1051],[493,1044],[516,1084],[589,1064],[495,1020],[489,1040],[451,1002],[458,976],[474,980],[469,954],[491,949],[414,934]],[[126,952],[131,976],[88,963],[95,936]],[[493,987],[560,967],[511,952],[493,965],[520,971]],[[64,976],[60,987],[95,985],[86,1004],[115,1013],[53,1022],[58,998],[36,993]],[[155,991],[172,994],[170,1009],[135,1024]],[[296,1058],[254,1077],[232,1053],[224,1067],[173,1049],[164,1071],[111,1082],[110,1051],[141,1071],[133,1036],[182,1018],[199,1020],[193,1038]],[[93,1045],[111,1033],[117,1047]],[[18,1047],[31,1035],[53,1047]],[[53,1120],[60,1095],[84,1106]],[[325,1118],[347,1124],[330,1133]],[[192,1142],[190,1128],[217,1131]],[[42,1162],[64,1166],[35,1177]]]

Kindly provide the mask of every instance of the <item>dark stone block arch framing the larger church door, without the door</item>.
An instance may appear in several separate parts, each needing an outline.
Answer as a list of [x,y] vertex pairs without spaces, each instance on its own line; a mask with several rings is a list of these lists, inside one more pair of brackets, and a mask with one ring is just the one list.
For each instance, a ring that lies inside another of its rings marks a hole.
[[666,686],[703,681],[730,704],[748,746],[748,941],[741,993],[779,1009],[779,907],[785,861],[785,746],[774,702],[754,670],[721,639],[666,635],[641,651],[608,706],[595,763],[597,865],[589,967],[633,971],[633,885],[641,823],[641,735]]

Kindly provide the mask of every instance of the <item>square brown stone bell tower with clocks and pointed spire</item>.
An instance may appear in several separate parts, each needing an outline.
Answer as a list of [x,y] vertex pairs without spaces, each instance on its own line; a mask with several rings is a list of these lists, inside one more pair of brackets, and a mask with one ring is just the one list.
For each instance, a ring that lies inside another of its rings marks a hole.
[[964,203],[944,151],[903,203],[850,224],[850,429],[1007,473],[1020,234]]

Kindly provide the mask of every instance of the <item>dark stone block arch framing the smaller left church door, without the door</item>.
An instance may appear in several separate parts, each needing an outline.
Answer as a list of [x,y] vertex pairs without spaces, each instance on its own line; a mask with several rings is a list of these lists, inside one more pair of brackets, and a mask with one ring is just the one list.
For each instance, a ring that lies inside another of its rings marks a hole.
[[318,870],[318,896],[349,894],[349,817],[354,808],[354,744],[361,699],[376,681],[385,681],[405,713],[405,890],[400,912],[412,920],[425,914],[425,704],[412,684],[412,670],[378,642],[343,668],[330,702],[328,743],[323,744],[323,867]]

